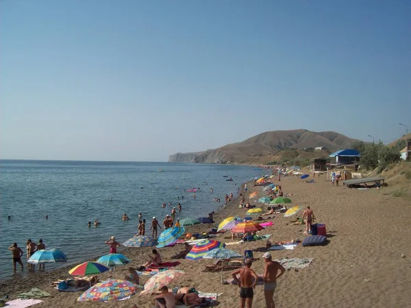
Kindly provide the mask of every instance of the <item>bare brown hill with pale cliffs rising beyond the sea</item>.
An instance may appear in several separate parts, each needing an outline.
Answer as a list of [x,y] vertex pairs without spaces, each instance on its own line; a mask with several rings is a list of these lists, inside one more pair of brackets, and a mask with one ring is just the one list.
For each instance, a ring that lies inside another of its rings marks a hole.
[[[358,140],[334,131],[267,131],[242,142],[227,144],[218,149],[197,153],[176,153],[169,162],[196,162],[208,164],[266,164],[273,160],[310,159],[327,155],[323,151],[303,151],[324,146],[327,151],[349,148]],[[320,153],[319,153],[320,152]]]

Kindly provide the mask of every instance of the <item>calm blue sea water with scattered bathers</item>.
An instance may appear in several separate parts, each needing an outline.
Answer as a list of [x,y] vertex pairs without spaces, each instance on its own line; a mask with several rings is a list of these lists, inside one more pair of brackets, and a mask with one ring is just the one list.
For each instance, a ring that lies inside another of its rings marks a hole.
[[[119,242],[132,238],[140,212],[146,229],[153,216],[162,222],[170,214],[172,207],[162,208],[162,203],[181,203],[180,218],[207,216],[222,204],[213,202],[214,197],[223,201],[225,194],[236,194],[240,183],[261,172],[247,166],[145,162],[1,160],[0,166],[0,279],[12,277],[7,248],[13,242],[25,252],[28,238],[42,238],[47,248],[61,249],[71,263],[82,261],[107,253],[103,243],[112,235]],[[234,181],[225,181],[224,175]],[[193,187],[201,188],[196,199],[186,192]],[[121,220],[124,213],[128,222]],[[87,222],[96,218],[101,226],[88,228]]]

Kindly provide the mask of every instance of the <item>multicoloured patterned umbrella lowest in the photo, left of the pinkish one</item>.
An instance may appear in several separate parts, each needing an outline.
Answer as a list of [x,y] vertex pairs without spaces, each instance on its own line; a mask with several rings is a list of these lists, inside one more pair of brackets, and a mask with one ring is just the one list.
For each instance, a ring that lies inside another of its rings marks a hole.
[[77,301],[101,301],[121,300],[136,293],[137,286],[130,281],[110,279],[97,283],[84,292]]

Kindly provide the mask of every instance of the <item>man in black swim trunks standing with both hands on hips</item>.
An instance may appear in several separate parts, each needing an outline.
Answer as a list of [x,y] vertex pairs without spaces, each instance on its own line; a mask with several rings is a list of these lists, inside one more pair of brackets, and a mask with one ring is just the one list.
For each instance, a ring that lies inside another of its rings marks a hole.
[[[245,308],[246,303],[247,308],[251,308],[253,305],[253,288],[256,287],[258,276],[256,272],[251,270],[251,264],[253,264],[253,261],[251,259],[246,259],[245,266],[232,273],[234,281],[236,281],[238,287],[240,287],[240,308]],[[240,274],[240,279],[237,278],[238,274]]]

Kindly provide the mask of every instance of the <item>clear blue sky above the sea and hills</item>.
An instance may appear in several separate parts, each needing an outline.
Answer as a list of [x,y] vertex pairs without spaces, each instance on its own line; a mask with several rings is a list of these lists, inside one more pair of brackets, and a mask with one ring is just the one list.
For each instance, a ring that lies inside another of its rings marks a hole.
[[0,158],[411,131],[411,1],[0,1]]

